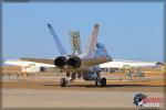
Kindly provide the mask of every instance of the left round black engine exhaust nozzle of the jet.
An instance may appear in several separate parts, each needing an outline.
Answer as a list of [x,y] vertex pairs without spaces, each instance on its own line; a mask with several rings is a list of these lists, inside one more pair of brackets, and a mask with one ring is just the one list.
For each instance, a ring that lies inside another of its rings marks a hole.
[[58,67],[64,67],[66,65],[66,57],[65,56],[59,56],[54,59],[54,65]]

